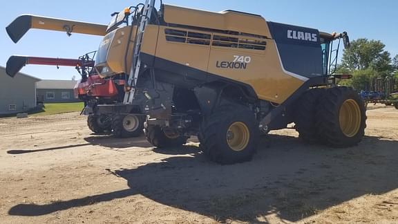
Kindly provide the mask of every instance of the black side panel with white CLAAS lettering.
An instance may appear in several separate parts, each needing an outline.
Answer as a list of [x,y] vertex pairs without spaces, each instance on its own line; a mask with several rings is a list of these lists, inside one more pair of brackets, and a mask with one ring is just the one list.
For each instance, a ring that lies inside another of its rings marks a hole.
[[312,28],[268,22],[283,67],[304,77],[322,75],[322,49],[319,31]]

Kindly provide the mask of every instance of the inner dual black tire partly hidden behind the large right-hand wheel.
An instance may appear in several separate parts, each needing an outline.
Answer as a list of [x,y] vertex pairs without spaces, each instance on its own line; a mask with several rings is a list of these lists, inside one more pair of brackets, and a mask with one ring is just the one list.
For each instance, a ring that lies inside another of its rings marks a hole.
[[312,88],[300,97],[294,106],[296,113],[294,115],[294,123],[299,137],[305,142],[318,142],[319,131],[316,128],[316,110],[320,100],[323,99],[325,88]]

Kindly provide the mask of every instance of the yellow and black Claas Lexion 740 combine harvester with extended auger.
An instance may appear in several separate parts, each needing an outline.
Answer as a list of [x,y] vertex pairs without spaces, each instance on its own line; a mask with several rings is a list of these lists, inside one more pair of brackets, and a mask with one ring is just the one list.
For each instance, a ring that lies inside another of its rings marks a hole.
[[155,147],[198,136],[211,160],[244,162],[254,155],[260,132],[292,122],[303,140],[334,147],[361,141],[363,102],[351,88],[336,86],[343,76],[330,69],[341,40],[349,46],[346,32],[330,35],[233,10],[164,4],[156,10],[154,3],[115,13],[107,28],[57,19],[41,27],[40,18],[26,17],[8,33],[15,41],[28,28],[104,35],[97,72],[128,80],[124,103],[99,105],[99,111],[128,114],[139,105]]

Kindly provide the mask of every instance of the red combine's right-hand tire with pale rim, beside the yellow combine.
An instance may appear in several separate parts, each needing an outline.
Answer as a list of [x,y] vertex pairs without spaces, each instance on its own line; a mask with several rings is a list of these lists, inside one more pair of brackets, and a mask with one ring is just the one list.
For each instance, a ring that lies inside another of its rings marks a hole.
[[116,138],[133,138],[142,135],[144,118],[137,115],[115,115],[112,120],[113,136]]

